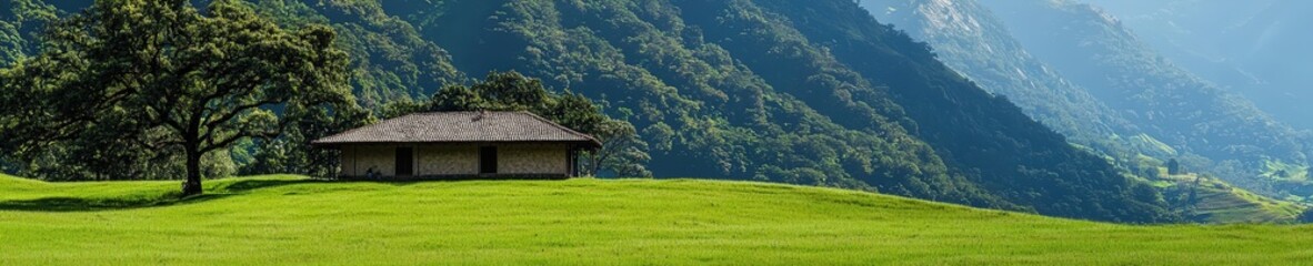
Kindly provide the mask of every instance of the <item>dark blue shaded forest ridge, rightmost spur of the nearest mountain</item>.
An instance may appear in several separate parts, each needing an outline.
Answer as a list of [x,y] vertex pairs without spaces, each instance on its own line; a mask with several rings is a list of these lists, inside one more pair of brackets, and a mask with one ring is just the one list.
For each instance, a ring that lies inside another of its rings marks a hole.
[[[1103,189],[1129,193],[1140,203],[1157,202],[1153,189],[1133,183],[1102,159],[1069,147],[1065,138],[1025,117],[1006,98],[981,90],[935,60],[924,52],[930,48],[923,43],[877,24],[852,5],[771,1],[769,8],[788,14],[807,38],[852,69],[892,88],[894,101],[919,123],[918,135],[968,172],[968,178],[991,191],[1003,191],[1012,200],[1056,202],[1037,206],[1048,211],[1065,208],[1058,206],[1088,210],[1102,204],[1074,197],[1127,195],[1099,193]],[[1054,180],[1061,181],[1048,183]]]

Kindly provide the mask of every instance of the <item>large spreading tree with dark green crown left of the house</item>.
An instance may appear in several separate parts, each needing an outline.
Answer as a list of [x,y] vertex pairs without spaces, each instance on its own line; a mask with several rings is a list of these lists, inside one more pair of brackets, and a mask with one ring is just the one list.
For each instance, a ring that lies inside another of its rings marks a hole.
[[282,135],[299,114],[353,105],[347,54],[326,26],[281,29],[239,1],[101,0],[53,24],[41,54],[0,71],[0,131],[12,151],[105,139],[201,159]]

